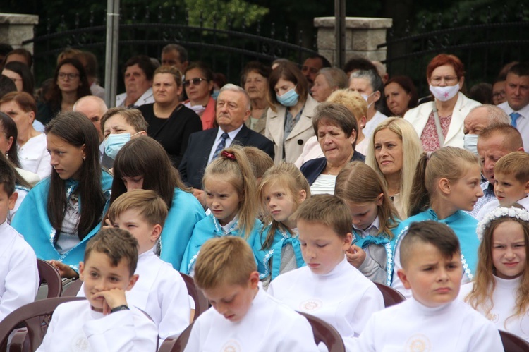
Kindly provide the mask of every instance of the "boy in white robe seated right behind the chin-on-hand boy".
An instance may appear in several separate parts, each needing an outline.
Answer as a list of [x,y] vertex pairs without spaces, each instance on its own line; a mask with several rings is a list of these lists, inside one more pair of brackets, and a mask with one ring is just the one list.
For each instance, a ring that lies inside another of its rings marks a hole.
[[181,334],[190,317],[186,283],[152,250],[167,217],[164,200],[152,190],[130,190],[114,200],[107,217],[115,228],[129,231],[139,244],[135,274],[141,279],[127,292],[128,303],[152,318],[160,344]]

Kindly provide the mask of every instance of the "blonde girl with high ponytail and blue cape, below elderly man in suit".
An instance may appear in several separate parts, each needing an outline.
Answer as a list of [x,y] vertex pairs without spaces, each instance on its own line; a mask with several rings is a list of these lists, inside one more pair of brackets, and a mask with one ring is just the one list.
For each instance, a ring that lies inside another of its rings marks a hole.
[[251,246],[262,228],[257,219],[257,187],[243,147],[229,147],[204,171],[206,205],[211,214],[199,221],[183,255],[180,271],[193,274],[200,248],[209,238],[239,236]]

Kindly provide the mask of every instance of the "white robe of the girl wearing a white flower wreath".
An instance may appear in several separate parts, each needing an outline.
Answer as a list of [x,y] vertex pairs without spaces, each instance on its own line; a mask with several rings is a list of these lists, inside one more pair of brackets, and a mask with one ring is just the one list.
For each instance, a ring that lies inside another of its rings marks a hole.
[[[485,315],[485,308],[478,307],[478,312],[493,322],[497,329],[515,334],[529,342],[529,312],[525,312],[525,315],[522,316],[511,317],[516,310],[517,291],[521,277],[511,280],[494,277],[494,280],[496,280],[496,288],[492,293],[494,305],[487,315]],[[468,293],[472,291],[473,285],[470,282],[461,286],[461,291],[459,291],[461,300],[465,300]]]

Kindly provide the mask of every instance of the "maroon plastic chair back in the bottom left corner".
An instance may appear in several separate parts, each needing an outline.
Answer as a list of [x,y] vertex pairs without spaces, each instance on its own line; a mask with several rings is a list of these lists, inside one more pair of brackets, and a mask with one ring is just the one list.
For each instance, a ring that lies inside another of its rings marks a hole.
[[0,351],[6,351],[9,334],[14,329],[25,325],[30,339],[30,351],[35,351],[42,344],[51,315],[61,303],[84,300],[84,297],[59,297],[35,301],[14,310],[0,322]]

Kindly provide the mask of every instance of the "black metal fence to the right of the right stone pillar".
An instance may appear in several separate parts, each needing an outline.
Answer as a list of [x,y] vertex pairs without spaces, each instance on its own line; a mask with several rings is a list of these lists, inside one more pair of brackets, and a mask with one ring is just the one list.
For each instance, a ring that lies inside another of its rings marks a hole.
[[529,59],[529,21],[523,4],[516,15],[508,16],[506,9],[499,7],[502,15],[491,18],[480,16],[470,9],[469,16],[458,20],[461,14],[453,14],[451,20],[441,13],[439,20],[427,23],[423,18],[415,28],[408,23],[406,33],[396,37],[389,31],[387,43],[387,70],[390,75],[408,75],[422,94],[427,93],[426,67],[440,53],[454,54],[465,64],[467,87],[476,83],[493,83],[504,64]]

